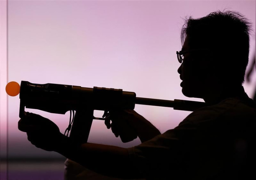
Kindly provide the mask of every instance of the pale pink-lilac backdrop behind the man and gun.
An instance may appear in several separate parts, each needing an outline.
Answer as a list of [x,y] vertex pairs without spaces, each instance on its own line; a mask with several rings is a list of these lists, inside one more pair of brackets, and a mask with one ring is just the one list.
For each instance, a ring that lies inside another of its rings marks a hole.
[[[137,97],[202,101],[185,97],[179,86],[176,51],[182,47],[182,18],[225,8],[241,12],[255,30],[255,1],[8,1],[8,81],[118,88]],[[255,34],[250,44],[252,59]],[[250,97],[253,77],[244,84]],[[58,157],[31,145],[17,129],[18,109],[19,97],[8,97],[9,156]],[[162,133],[190,113],[143,105],[135,110]],[[69,122],[69,113],[28,111],[53,120],[63,133]],[[121,143],[99,120],[93,122],[89,142],[121,147],[139,143]]]

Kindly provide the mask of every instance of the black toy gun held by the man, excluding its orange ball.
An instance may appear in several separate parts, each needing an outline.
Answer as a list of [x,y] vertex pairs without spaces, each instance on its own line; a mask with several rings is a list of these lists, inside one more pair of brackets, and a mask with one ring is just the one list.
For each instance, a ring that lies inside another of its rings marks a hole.
[[[194,111],[205,106],[205,103],[197,101],[136,98],[135,92],[122,91],[122,89],[84,88],[51,83],[35,84],[28,81],[21,81],[19,98],[20,118],[24,116],[25,107],[56,114],[65,114],[67,111],[75,110],[70,137],[79,143],[87,142],[93,119],[103,119],[95,118],[94,110],[134,109],[135,104],[141,104]],[[118,123],[121,129],[127,124],[127,122]],[[127,127],[123,129],[127,130]],[[120,132],[120,138],[122,142],[129,142],[137,138],[137,135],[133,129],[128,129],[127,132]]]

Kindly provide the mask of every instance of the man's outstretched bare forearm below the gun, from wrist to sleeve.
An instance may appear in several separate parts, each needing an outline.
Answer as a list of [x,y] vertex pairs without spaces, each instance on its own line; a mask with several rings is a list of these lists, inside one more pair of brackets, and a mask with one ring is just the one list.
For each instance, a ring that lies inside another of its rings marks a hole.
[[141,178],[126,148],[93,143],[77,145],[63,135],[55,151],[99,174],[122,179]]

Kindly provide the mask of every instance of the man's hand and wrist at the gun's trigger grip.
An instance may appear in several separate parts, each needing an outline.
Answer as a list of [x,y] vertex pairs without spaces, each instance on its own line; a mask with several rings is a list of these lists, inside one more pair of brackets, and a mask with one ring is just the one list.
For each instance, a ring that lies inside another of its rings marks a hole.
[[139,137],[141,142],[147,141],[159,134],[159,130],[143,116],[134,110],[111,110],[106,115],[105,125],[111,128],[116,137],[122,142],[129,142]]

